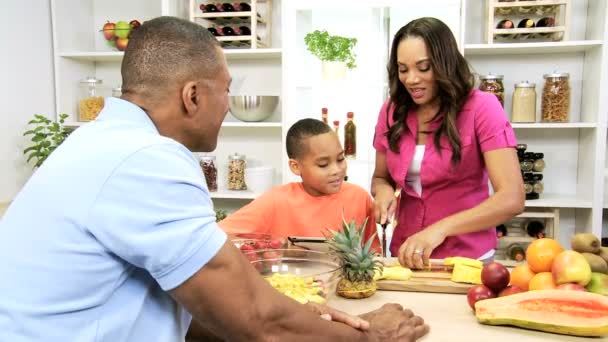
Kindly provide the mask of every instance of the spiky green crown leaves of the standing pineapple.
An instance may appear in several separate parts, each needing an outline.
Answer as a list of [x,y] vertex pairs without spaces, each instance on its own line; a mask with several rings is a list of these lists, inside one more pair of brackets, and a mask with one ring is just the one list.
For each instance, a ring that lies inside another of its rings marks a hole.
[[376,270],[382,273],[382,263],[374,259],[374,251],[371,249],[376,234],[362,244],[367,220],[365,218],[361,226],[357,227],[354,220],[346,222],[342,215],[341,230],[327,229],[330,253],[338,257],[342,274],[350,281],[371,281]]

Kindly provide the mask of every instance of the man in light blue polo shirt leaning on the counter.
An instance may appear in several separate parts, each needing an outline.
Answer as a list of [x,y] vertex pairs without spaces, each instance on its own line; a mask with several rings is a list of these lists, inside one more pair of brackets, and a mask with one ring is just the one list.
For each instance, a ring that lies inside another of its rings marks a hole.
[[226,241],[191,153],[215,149],[228,110],[230,75],[205,28],[144,23],[121,73],[122,99],[53,153],[0,221],[0,341],[183,341],[192,316],[234,341],[426,333],[397,305],[369,323],[300,305]]

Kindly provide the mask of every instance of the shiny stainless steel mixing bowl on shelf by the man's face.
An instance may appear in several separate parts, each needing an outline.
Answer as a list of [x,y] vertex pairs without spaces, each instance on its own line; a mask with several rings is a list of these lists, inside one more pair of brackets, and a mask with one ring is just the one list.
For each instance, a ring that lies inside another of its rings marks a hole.
[[278,96],[230,96],[230,112],[241,121],[263,121],[272,115]]

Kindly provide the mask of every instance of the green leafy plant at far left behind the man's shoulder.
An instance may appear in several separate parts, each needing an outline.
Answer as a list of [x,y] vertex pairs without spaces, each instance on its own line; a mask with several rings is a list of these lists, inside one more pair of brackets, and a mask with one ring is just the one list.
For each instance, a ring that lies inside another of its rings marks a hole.
[[36,162],[34,166],[39,167],[61,145],[70,133],[63,125],[67,117],[67,114],[60,114],[59,121],[52,121],[42,115],[34,114],[34,119],[28,122],[28,125],[34,128],[23,133],[24,136],[32,136],[32,145],[23,150],[28,162],[33,159]]

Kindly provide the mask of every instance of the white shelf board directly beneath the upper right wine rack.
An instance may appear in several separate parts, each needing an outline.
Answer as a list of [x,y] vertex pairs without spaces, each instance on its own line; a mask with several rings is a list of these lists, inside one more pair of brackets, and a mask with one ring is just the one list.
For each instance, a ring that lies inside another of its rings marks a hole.
[[601,40],[563,42],[465,44],[466,56],[576,53],[601,47]]

